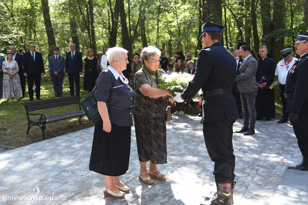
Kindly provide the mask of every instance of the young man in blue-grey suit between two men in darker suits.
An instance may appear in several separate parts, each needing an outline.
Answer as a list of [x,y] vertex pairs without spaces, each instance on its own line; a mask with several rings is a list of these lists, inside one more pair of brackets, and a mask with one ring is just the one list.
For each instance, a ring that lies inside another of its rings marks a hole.
[[60,49],[54,48],[55,55],[49,58],[50,77],[54,85],[55,97],[62,97],[62,83],[64,77],[64,57],[59,55]]

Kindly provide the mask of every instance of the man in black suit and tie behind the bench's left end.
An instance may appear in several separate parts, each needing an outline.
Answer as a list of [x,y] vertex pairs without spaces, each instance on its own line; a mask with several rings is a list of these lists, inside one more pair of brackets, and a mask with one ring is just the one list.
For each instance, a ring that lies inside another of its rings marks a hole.
[[41,77],[44,76],[44,63],[41,53],[35,51],[35,44],[29,43],[29,51],[23,54],[23,75],[28,79],[30,101],[33,101],[33,82],[35,83],[35,97],[41,99]]

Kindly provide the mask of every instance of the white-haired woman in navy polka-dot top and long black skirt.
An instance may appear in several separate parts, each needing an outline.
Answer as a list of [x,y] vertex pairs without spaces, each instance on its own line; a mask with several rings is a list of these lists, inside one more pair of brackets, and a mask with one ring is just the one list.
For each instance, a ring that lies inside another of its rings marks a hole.
[[120,47],[108,49],[110,65],[97,78],[95,91],[102,120],[95,124],[89,169],[104,175],[104,195],[114,198],[129,191],[119,178],[128,170],[133,125],[134,91],[122,74],[128,64],[127,52]]

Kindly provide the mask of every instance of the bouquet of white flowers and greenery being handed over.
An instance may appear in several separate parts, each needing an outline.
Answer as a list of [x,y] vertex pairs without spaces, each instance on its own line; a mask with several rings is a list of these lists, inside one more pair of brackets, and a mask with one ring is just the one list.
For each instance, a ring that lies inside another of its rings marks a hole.
[[[175,92],[182,93],[184,89],[187,87],[188,82],[193,79],[193,75],[188,73],[171,73],[171,75],[164,74],[161,75],[158,79],[157,87],[160,89],[172,90],[172,95],[175,96]],[[201,97],[202,91],[201,89],[199,92],[194,96],[194,98],[202,98]]]

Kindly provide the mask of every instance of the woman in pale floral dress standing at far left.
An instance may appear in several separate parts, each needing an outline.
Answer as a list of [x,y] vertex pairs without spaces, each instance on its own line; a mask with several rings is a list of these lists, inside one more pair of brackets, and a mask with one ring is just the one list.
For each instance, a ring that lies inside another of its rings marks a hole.
[[22,96],[22,90],[20,85],[20,79],[18,75],[18,64],[13,61],[13,53],[7,53],[7,60],[2,62],[3,70],[3,99],[9,98],[9,102],[12,102],[12,96],[14,101],[17,101],[17,96]]

